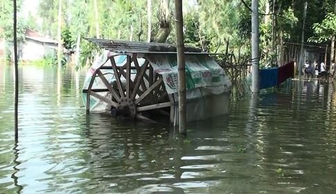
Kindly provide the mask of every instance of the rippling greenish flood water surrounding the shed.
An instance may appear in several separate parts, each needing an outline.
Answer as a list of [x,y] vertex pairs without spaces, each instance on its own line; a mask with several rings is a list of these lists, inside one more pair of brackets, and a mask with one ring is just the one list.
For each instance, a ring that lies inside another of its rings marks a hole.
[[[85,72],[0,65],[0,193],[333,193],[334,86],[293,81],[231,113],[169,125],[85,114]],[[187,140],[186,140],[187,139]],[[189,142],[190,141],[190,142]]]

